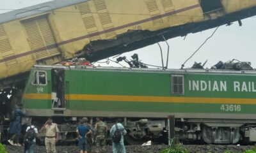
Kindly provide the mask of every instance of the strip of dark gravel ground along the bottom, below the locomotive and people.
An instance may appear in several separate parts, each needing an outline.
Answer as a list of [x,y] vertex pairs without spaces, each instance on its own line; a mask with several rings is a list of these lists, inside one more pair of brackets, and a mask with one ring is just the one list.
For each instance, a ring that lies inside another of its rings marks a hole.
[[[191,153],[206,153],[206,152],[245,152],[246,150],[253,149],[253,145],[237,146],[237,145],[181,145],[188,152]],[[5,145],[8,153],[22,153],[23,147]],[[159,153],[161,150],[168,148],[168,145],[127,145],[125,146],[127,153]],[[77,146],[57,146],[58,153],[77,153]],[[46,152],[44,146],[36,146],[36,152]],[[106,146],[100,153],[112,152],[112,146]]]

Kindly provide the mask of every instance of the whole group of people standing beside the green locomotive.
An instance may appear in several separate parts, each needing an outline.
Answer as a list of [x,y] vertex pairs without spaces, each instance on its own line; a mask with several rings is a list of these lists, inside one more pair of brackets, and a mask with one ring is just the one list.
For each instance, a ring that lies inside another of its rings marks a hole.
[[[21,117],[25,116],[26,113],[17,106],[13,112],[13,119],[10,123],[9,133],[10,140],[8,142],[11,145],[21,145],[20,136],[21,133]],[[113,138],[112,146],[113,153],[118,152],[120,148],[121,153],[125,153],[124,146],[124,135],[127,133],[124,126],[121,124],[122,120],[117,119],[116,124],[112,126],[109,133]],[[48,117],[44,126],[38,129],[35,124],[27,124],[26,133],[24,135],[24,152],[25,153],[34,153],[36,148],[36,136],[39,133],[45,133],[45,149],[47,153],[56,153],[56,142],[59,140],[59,129],[58,125],[52,122],[52,117]],[[88,123],[88,119],[83,117],[79,120],[77,125],[77,140],[80,153],[91,153],[92,145],[95,144],[94,152],[102,152],[104,146],[106,145],[106,138],[108,134],[108,126],[106,122],[103,122],[102,117],[96,118],[96,123],[93,128],[92,125]]]

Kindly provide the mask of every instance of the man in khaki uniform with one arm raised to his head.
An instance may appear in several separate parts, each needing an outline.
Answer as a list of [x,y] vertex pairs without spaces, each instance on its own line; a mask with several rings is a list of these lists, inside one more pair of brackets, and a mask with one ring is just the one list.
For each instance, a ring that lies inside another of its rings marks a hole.
[[40,131],[45,132],[45,147],[47,153],[56,153],[55,143],[59,140],[58,125],[52,123],[52,118],[49,117]]

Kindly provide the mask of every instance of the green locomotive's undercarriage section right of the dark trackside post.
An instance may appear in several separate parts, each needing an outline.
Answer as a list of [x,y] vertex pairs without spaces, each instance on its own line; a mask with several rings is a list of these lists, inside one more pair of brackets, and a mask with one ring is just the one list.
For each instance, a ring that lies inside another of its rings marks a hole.
[[177,123],[175,138],[181,142],[248,144],[256,141],[255,120],[200,119]]

